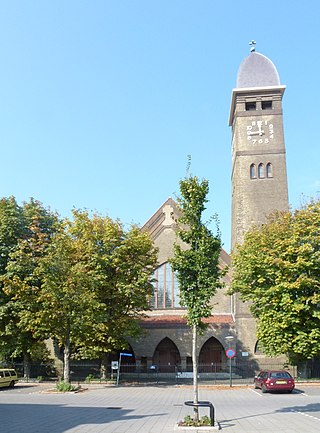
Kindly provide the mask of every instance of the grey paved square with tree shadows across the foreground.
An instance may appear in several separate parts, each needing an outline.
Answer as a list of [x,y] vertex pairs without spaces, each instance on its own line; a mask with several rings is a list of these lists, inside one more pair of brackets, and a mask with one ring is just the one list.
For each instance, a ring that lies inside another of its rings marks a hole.
[[[46,386],[0,390],[1,433],[173,433],[192,408],[191,387],[90,386],[78,394],[45,392]],[[225,433],[318,433],[320,388],[261,394],[252,388],[200,388]],[[202,409],[201,414],[208,414]]]

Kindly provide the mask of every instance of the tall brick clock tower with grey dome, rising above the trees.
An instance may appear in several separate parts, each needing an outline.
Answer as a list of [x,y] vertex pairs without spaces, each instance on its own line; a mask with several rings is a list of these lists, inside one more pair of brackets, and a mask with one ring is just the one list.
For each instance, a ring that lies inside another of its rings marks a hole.
[[238,70],[232,91],[229,125],[232,127],[231,248],[242,243],[252,225],[265,221],[274,210],[288,210],[286,151],[282,97],[274,64],[255,51]]

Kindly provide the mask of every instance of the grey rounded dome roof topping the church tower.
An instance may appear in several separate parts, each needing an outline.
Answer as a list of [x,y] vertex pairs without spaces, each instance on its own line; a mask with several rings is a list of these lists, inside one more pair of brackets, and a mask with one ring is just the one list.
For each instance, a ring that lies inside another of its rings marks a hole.
[[253,51],[242,61],[237,75],[237,88],[279,85],[276,67],[263,54]]

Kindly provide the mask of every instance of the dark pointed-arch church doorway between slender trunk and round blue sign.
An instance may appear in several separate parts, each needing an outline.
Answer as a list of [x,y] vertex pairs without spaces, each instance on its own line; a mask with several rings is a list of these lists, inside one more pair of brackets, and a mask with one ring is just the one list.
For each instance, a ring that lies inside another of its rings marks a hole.
[[214,337],[209,338],[202,346],[199,354],[199,371],[221,371],[226,355],[222,344]]

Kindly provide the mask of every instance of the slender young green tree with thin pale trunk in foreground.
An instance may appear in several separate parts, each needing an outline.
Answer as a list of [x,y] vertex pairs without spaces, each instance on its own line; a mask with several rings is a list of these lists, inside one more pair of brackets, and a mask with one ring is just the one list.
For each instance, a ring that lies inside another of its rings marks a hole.
[[[170,260],[180,287],[181,303],[187,308],[187,321],[192,328],[192,362],[194,403],[198,402],[197,336],[205,329],[203,318],[212,311],[211,300],[221,287],[222,270],[219,268],[221,241],[219,231],[213,235],[202,221],[209,184],[189,176],[180,181],[181,198],[178,200],[182,216],[179,218],[178,238],[182,241],[174,248]],[[214,217],[216,221],[216,217]],[[217,223],[217,221],[216,221]],[[194,419],[198,420],[198,410]]]

